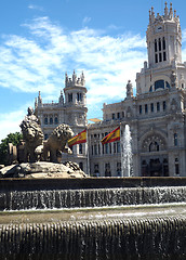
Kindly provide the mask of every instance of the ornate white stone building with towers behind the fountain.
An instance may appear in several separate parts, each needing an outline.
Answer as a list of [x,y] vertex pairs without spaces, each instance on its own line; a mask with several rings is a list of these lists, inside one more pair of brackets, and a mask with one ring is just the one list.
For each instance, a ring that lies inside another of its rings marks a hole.
[[[129,80],[127,98],[104,104],[103,121],[89,125],[89,165],[85,145],[74,147],[74,158],[92,176],[121,176],[120,142],[102,145],[101,140],[118,126],[123,134],[125,125],[131,129],[134,176],[186,176],[186,63],[182,63],[182,31],[172,4],[168,9],[165,3],[163,15],[149,11],[146,40],[148,62],[136,74],[136,95]],[[38,98],[45,134],[55,122],[69,123],[75,133],[87,126],[83,75],[77,79],[74,73],[72,80],[66,76],[64,92],[65,102],[61,94],[57,104],[42,104]]]

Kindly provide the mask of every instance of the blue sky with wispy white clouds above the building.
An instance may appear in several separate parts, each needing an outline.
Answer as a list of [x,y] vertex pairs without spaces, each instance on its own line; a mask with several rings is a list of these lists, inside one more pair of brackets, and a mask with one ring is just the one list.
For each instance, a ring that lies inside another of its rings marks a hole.
[[[173,0],[183,30],[186,3]],[[168,1],[170,4],[170,1]],[[162,14],[162,0],[5,0],[0,2],[0,140],[19,131],[38,91],[57,102],[65,73],[84,72],[88,118],[102,117],[103,103],[125,96],[129,79],[147,60],[148,11]]]

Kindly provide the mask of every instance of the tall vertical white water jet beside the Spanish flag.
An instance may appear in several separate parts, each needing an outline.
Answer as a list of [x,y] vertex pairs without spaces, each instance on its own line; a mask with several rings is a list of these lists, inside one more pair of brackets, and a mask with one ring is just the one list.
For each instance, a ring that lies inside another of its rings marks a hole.
[[122,177],[132,176],[132,138],[129,125],[125,125],[125,129],[122,136],[121,147],[121,165],[122,165]]

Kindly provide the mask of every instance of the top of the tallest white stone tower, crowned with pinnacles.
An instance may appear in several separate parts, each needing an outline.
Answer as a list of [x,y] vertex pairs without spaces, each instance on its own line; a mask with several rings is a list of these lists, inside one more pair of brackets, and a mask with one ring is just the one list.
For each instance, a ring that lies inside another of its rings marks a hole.
[[164,14],[155,16],[149,11],[149,25],[146,32],[149,68],[182,63],[182,32],[180,17],[165,2]]

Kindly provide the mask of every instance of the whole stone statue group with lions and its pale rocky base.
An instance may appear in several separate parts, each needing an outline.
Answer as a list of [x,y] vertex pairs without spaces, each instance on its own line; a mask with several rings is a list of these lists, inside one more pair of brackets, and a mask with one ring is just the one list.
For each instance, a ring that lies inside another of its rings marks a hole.
[[[71,161],[62,162],[62,153],[71,154],[67,142],[74,136],[68,125],[57,126],[48,140],[43,140],[40,121],[28,107],[21,123],[23,141],[9,145],[9,166],[0,169],[1,178],[85,178],[80,167]],[[56,164],[57,162],[57,164]]]

